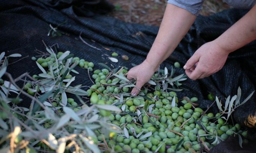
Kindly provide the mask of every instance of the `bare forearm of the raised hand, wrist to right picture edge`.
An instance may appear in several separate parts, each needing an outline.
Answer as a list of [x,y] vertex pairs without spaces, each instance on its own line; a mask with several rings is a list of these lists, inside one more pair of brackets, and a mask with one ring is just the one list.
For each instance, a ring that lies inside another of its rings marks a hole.
[[214,41],[223,50],[233,52],[255,39],[256,5]]

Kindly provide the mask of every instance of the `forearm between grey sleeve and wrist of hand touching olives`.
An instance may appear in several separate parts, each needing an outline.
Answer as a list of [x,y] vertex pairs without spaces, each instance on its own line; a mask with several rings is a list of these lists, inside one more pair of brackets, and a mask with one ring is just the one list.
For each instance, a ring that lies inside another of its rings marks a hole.
[[174,51],[187,34],[196,16],[178,6],[167,4],[158,35],[146,58],[155,69]]

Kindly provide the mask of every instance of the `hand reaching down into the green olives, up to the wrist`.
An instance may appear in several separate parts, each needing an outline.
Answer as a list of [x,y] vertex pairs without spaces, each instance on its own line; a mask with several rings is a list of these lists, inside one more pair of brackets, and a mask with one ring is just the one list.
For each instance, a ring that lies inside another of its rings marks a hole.
[[140,93],[140,88],[150,80],[156,70],[157,68],[145,60],[140,65],[137,65],[128,71],[127,78],[129,80],[136,80],[136,87],[134,87],[131,91],[132,96],[136,96],[138,93]]

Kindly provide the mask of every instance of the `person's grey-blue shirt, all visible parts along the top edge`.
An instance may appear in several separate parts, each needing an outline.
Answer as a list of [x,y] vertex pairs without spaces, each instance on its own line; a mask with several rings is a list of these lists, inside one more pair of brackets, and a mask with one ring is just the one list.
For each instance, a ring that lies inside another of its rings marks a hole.
[[[179,6],[194,15],[198,15],[202,9],[204,0],[168,0],[168,3]],[[228,5],[239,8],[239,9],[251,9],[256,0],[223,0]]]

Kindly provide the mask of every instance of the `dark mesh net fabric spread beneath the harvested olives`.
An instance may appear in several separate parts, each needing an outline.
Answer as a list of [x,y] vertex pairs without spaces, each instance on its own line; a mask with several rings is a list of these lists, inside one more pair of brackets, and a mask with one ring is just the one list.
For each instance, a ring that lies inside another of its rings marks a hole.
[[[9,63],[13,64],[9,65],[7,71],[14,78],[25,72],[29,72],[30,75],[40,73],[31,57],[38,55],[35,50],[45,52],[42,40],[49,46],[58,44],[58,51],[69,50],[75,56],[94,62],[94,69],[102,68],[97,65],[99,62],[108,66],[112,64],[115,68],[118,66],[131,68],[131,63],[139,64],[145,59],[159,29],[154,26],[129,24],[99,15],[113,9],[113,6],[104,0],[91,0],[86,1],[87,3],[79,0],[16,0],[15,2],[1,0],[0,2],[0,52],[5,51],[7,55],[20,53],[22,57],[28,56],[16,63],[13,62],[18,58],[10,58]],[[216,39],[246,12],[247,10],[230,9],[209,17],[198,16],[188,34],[161,68],[167,67],[170,70],[175,61],[184,65],[201,45]],[[64,24],[60,25],[63,22]],[[64,34],[61,37],[47,36],[50,30],[49,24],[53,27],[60,25],[58,30]],[[79,39],[80,34],[86,42],[100,50],[84,44]],[[222,70],[214,75],[197,81],[188,79],[182,86],[189,91],[179,92],[179,98],[198,97],[199,107],[206,109],[212,103],[207,100],[209,92],[224,101],[228,95],[236,95],[240,86],[241,99],[244,100],[256,86],[255,50],[256,42],[253,41],[231,53]],[[112,63],[104,54],[110,55],[113,51],[119,55],[129,56],[129,61],[124,61],[119,56],[117,57],[119,62]],[[76,76],[74,84],[91,86],[92,82],[88,78],[87,71],[79,67],[76,70],[80,75]],[[184,73],[182,68],[175,68],[175,75],[182,73]],[[236,109],[233,119],[245,126],[256,127],[255,102],[256,94]],[[26,107],[29,104],[30,101],[22,102]],[[217,106],[213,106],[210,111],[216,113]],[[250,131],[255,133],[253,128]],[[248,135],[255,138],[255,134]],[[214,147],[211,152],[255,151],[255,142],[251,141],[247,147],[240,148],[237,147],[237,140],[230,138]]]

